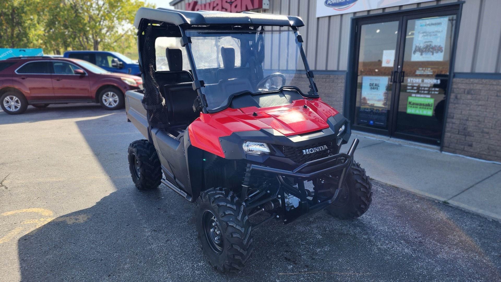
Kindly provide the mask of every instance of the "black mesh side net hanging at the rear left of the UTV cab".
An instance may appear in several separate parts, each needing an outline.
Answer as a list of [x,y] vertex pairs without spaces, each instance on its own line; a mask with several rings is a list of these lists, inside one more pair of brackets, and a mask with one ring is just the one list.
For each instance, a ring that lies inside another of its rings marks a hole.
[[144,32],[144,45],[141,52],[144,71],[144,97],[142,102],[146,109],[149,125],[151,127],[166,128],[169,126],[167,105],[155,80],[155,41],[151,37],[152,29],[152,26],[148,26]]

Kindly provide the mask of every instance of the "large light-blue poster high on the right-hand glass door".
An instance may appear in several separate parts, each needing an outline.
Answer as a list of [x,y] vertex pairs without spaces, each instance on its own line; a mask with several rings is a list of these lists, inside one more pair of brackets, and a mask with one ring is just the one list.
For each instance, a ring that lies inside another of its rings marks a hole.
[[411,61],[442,61],[449,17],[416,20]]

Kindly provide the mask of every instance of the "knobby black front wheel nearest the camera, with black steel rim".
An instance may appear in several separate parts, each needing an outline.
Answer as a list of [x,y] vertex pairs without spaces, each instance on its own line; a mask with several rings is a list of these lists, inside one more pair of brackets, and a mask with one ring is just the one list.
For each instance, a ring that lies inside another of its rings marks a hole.
[[210,265],[221,273],[241,270],[254,248],[241,201],[233,191],[211,188],[196,205],[198,240]]

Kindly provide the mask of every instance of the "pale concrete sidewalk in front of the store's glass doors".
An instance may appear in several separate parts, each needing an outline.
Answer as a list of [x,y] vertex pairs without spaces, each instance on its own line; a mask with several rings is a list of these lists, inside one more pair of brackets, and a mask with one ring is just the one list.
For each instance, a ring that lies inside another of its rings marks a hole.
[[355,160],[372,179],[501,220],[501,165],[440,153],[437,146],[352,131]]

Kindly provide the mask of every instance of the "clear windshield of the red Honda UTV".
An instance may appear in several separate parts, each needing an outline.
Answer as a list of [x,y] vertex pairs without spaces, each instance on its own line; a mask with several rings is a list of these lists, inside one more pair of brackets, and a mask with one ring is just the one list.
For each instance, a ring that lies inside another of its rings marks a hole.
[[[271,29],[271,28],[269,28]],[[262,93],[283,86],[308,93],[310,82],[300,45],[290,28],[246,32],[186,31],[207,109],[226,107],[229,97]]]

